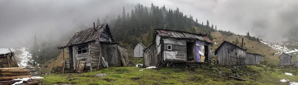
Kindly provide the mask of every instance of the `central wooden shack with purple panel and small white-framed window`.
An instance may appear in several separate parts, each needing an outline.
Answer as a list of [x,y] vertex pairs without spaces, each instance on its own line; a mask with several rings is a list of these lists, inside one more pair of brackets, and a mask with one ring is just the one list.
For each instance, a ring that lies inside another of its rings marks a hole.
[[155,29],[152,43],[143,50],[144,67],[210,63],[212,43],[207,35]]

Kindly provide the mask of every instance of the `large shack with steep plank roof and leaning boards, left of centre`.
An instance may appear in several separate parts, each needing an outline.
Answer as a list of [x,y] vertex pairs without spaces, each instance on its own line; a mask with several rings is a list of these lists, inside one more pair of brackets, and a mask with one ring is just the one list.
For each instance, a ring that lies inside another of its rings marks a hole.
[[114,41],[108,24],[95,26],[93,22],[93,28],[75,33],[67,45],[58,48],[65,47],[69,48],[69,67],[73,69],[78,69],[79,61],[85,62],[84,71],[128,66],[127,49]]

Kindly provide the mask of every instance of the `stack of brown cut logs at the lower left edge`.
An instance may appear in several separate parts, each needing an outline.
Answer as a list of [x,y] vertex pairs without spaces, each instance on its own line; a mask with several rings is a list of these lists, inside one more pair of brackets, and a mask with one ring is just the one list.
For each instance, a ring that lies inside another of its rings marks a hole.
[[0,81],[30,77],[30,70],[26,67],[0,68]]

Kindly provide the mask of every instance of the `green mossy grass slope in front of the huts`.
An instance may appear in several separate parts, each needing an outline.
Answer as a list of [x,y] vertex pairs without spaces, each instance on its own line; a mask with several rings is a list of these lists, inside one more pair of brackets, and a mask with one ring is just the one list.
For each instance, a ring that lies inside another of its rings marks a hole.
[[[247,66],[244,69],[215,65],[203,66],[195,70],[162,68],[146,69],[138,67],[111,67],[100,71],[82,74],[51,74],[44,76],[42,85],[286,85],[281,79],[298,82],[298,70],[277,69],[262,66]],[[270,68],[270,69],[269,69]],[[295,76],[285,75],[285,72]],[[97,78],[95,74],[105,73],[108,76]],[[247,81],[237,81],[228,78],[229,75],[239,75]],[[71,81],[69,81],[71,80]]]

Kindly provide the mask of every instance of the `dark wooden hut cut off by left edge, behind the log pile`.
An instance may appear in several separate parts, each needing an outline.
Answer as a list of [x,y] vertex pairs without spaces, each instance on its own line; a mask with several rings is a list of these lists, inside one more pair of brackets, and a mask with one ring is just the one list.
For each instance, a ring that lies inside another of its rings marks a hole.
[[13,55],[13,52],[0,54],[0,68],[18,67]]

